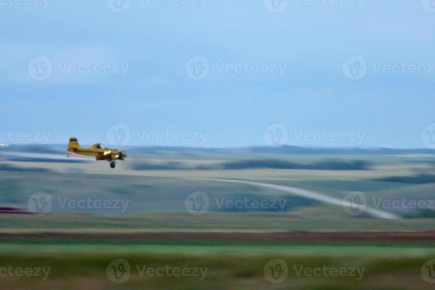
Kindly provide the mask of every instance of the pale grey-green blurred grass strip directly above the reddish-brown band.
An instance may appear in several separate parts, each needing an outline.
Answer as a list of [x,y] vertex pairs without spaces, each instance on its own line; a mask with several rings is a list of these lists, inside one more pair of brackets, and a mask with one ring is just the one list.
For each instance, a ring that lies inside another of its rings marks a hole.
[[282,213],[145,212],[132,215],[0,214],[0,233],[141,233],[207,231],[361,232],[433,231],[434,218],[380,220],[348,216],[339,206],[300,207]]

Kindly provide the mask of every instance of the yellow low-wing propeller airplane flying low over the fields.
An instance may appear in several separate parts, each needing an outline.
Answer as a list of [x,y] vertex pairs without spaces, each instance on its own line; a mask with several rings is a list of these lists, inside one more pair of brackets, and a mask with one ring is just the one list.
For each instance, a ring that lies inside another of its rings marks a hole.
[[71,154],[94,156],[97,160],[107,160],[110,162],[111,168],[115,168],[115,160],[124,160],[124,158],[127,157],[124,151],[103,148],[101,143],[95,143],[91,147],[80,147],[75,137],[71,137],[70,143],[68,143],[67,157],[70,157]]

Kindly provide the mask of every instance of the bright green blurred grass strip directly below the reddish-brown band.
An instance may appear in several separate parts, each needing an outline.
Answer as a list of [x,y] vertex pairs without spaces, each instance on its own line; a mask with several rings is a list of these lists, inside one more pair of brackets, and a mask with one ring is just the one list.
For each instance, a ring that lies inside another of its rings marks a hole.
[[146,255],[293,255],[354,258],[415,258],[435,256],[435,243],[265,242],[218,240],[69,240],[67,238],[1,238],[0,253],[110,253]]

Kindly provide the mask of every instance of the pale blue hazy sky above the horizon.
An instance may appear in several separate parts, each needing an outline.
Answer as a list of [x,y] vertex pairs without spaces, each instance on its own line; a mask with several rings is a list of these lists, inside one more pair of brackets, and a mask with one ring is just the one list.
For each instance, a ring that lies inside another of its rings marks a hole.
[[[107,143],[107,130],[125,123],[131,145],[241,147],[265,145],[264,130],[281,123],[288,145],[425,148],[422,130],[435,123],[435,13],[424,0],[290,0],[280,13],[263,0],[209,0],[203,9],[200,0],[131,0],[123,13],[109,9],[111,0],[50,0],[46,9],[28,1],[35,5],[0,0],[1,132]],[[35,80],[40,56],[52,71]],[[202,80],[186,71],[196,56],[208,61]],[[352,56],[366,62],[360,80],[343,70]],[[402,63],[398,73],[376,70]],[[207,140],[140,140],[144,130]],[[361,144],[298,140],[301,130],[365,135]]]

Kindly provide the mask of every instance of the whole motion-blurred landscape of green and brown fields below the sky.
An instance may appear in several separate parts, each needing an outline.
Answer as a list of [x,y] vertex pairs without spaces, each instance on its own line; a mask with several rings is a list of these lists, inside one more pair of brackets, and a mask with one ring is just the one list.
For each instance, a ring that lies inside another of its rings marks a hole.
[[[3,277],[6,288],[115,289],[106,267],[123,258],[132,265],[208,267],[203,280],[145,278],[132,269],[124,289],[431,289],[420,267],[435,257],[434,210],[385,210],[396,219],[351,216],[341,205],[222,180],[303,188],[337,200],[360,191],[375,208],[379,197],[433,199],[432,150],[131,147],[113,170],[89,157],[67,158],[65,148],[0,148],[2,208],[26,212],[29,197],[38,191],[53,198],[47,215],[0,213],[1,259],[52,269],[47,280]],[[197,191],[210,197],[201,216],[185,207]],[[65,198],[129,203],[124,211],[62,208]],[[244,198],[286,203],[282,209],[219,207],[219,200]],[[358,265],[366,272],[356,280],[299,277],[289,270],[286,281],[271,284],[263,267],[277,257],[312,267]]]

